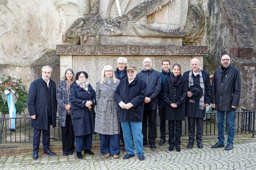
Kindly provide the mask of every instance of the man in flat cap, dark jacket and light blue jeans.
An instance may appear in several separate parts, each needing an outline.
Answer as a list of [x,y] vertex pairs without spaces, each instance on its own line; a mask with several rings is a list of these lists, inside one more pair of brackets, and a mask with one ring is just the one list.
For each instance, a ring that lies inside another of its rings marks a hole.
[[132,137],[139,160],[144,160],[142,116],[146,83],[137,76],[135,66],[127,68],[128,78],[120,82],[115,91],[115,101],[118,105],[118,120],[121,122],[127,154],[123,159],[134,156]]

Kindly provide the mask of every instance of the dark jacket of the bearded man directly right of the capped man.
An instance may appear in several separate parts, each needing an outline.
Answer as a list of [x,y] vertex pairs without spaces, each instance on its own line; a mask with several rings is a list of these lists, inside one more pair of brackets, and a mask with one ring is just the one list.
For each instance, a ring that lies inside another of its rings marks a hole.
[[137,76],[146,82],[146,97],[151,100],[145,104],[144,109],[157,109],[157,96],[161,91],[160,72],[151,68],[150,70],[141,70]]

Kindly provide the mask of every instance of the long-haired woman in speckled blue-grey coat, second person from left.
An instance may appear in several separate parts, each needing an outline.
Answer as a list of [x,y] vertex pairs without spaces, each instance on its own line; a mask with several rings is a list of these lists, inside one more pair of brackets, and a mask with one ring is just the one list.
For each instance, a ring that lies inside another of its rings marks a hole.
[[62,135],[63,155],[72,155],[74,151],[74,131],[71,119],[71,102],[69,94],[71,85],[74,84],[74,71],[68,68],[65,72],[65,79],[61,80],[56,90],[56,98],[59,104],[59,123]]

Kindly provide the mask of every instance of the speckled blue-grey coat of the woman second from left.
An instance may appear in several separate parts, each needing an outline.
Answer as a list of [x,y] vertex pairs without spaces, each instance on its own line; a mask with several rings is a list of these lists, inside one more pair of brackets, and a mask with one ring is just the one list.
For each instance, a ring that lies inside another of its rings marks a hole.
[[[65,127],[66,126],[66,110],[65,110],[65,106],[68,104],[68,100],[67,98],[69,98],[69,96],[67,96],[67,88],[66,88],[66,82],[61,80],[58,84],[57,90],[56,90],[56,98],[57,98],[57,102],[59,104],[59,123],[60,126]],[[71,105],[71,102],[69,102],[69,104]],[[71,114],[72,114],[72,109],[70,109]]]

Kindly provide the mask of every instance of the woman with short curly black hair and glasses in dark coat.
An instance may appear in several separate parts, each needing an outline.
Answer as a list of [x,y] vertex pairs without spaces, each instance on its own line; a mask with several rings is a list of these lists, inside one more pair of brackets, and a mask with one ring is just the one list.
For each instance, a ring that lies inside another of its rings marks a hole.
[[94,154],[92,149],[92,134],[94,133],[94,106],[96,93],[92,86],[86,82],[88,74],[84,71],[76,73],[76,82],[70,91],[72,121],[76,137],[76,155],[82,159],[82,151]]

